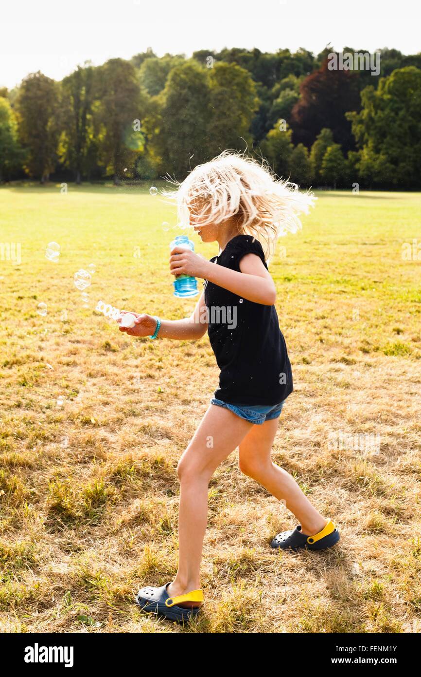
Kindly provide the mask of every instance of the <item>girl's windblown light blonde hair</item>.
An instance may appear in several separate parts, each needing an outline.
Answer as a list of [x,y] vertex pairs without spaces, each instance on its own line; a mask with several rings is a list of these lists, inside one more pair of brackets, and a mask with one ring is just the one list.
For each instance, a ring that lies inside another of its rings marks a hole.
[[182,183],[172,183],[177,189],[162,194],[176,200],[180,225],[189,225],[192,209],[202,225],[239,215],[239,233],[259,240],[266,260],[278,237],[301,228],[301,213],[316,200],[310,191],[299,192],[296,183],[277,179],[267,162],[230,150],[197,165]]

